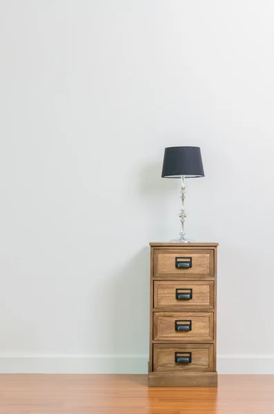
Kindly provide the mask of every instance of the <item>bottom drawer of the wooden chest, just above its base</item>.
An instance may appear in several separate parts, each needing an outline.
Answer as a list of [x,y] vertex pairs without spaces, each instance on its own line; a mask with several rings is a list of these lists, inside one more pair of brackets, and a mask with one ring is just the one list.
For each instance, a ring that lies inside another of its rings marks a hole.
[[213,344],[154,344],[153,371],[213,371]]

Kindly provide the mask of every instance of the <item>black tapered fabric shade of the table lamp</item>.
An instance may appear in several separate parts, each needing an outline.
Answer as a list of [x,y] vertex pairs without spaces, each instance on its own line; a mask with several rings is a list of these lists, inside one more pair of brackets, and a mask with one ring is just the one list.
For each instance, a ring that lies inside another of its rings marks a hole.
[[199,147],[168,147],[164,150],[162,177],[204,177],[204,168]]

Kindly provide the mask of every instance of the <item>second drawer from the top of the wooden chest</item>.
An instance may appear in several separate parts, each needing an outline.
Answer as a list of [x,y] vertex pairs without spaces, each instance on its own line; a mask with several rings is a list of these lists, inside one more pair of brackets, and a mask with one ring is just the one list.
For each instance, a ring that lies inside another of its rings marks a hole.
[[[214,282],[155,280],[154,308],[208,310],[214,307]],[[171,309],[173,310],[173,309]]]

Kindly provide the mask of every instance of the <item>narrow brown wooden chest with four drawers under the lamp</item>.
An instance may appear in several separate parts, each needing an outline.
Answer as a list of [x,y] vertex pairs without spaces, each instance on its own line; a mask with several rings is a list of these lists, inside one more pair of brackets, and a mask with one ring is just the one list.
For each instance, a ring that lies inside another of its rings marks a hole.
[[217,243],[150,243],[148,386],[217,386]]

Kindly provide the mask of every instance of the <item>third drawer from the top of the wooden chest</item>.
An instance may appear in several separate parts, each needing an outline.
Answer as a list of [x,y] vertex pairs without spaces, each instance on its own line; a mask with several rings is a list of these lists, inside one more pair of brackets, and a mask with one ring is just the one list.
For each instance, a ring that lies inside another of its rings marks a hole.
[[213,341],[213,313],[154,312],[153,339]]

